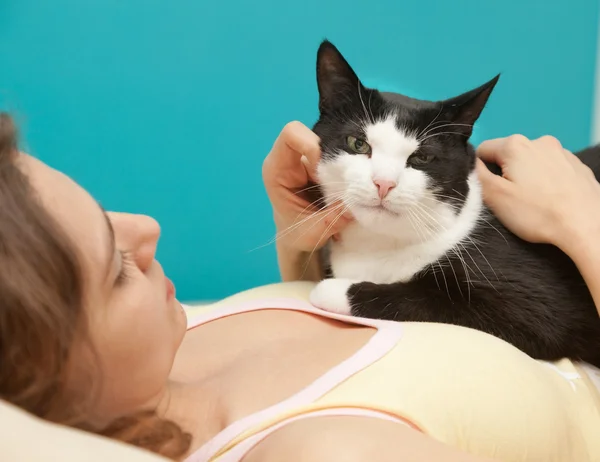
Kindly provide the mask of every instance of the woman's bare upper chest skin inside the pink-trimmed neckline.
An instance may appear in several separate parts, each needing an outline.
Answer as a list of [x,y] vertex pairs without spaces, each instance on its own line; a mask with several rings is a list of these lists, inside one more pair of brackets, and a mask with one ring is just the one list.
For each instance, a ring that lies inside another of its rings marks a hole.
[[243,313],[188,332],[172,378],[211,390],[231,423],[302,390],[374,332],[302,312]]

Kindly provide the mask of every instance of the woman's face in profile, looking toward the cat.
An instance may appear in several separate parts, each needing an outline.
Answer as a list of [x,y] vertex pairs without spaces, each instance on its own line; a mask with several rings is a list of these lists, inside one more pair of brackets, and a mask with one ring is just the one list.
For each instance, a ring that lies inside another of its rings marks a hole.
[[86,371],[100,374],[93,375],[100,385],[97,418],[157,405],[186,330],[173,286],[154,259],[158,223],[105,213],[77,183],[33,157],[21,155],[19,164],[81,256],[87,335],[96,357],[79,354],[85,350],[75,346],[73,361],[80,370],[98,362],[97,369]]

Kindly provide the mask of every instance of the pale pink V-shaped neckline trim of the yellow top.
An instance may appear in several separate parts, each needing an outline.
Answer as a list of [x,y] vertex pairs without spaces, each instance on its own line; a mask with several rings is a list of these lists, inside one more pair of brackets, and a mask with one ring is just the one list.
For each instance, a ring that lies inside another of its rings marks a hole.
[[312,305],[296,299],[263,299],[253,300],[235,306],[224,306],[214,312],[203,313],[188,323],[188,328],[206,324],[226,316],[258,311],[264,309],[284,309],[317,314],[323,317],[350,322],[352,324],[366,325],[377,328],[377,332],[369,341],[350,358],[333,367],[317,380],[309,384],[298,393],[273,406],[250,414],[226,427],[215,437],[206,442],[200,449],[186,459],[186,462],[205,462],[212,459],[226,444],[236,438],[249,428],[259,425],[261,422],[273,419],[277,415],[284,414],[290,409],[307,406],[323,395],[327,394],[340,383],[364,368],[373,364],[387,354],[399,341],[402,330],[399,323],[390,321],[378,321],[373,319],[356,318],[324,312]]

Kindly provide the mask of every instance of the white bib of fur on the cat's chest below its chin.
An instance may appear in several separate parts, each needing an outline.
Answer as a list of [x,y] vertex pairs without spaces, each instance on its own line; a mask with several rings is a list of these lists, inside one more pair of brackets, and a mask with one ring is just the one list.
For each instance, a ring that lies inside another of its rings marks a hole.
[[449,250],[468,239],[483,212],[481,192],[477,180],[469,181],[470,192],[461,212],[451,224],[427,235],[423,230],[409,229],[414,223],[407,222],[406,232],[421,238],[407,240],[374,232],[360,223],[350,225],[333,242],[330,258],[336,278],[369,281],[378,284],[407,282],[429,264],[439,260]]

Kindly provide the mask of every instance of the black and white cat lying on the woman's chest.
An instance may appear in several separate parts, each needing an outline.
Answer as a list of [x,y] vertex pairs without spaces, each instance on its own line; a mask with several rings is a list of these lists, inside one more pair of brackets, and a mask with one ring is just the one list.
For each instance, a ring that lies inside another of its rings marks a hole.
[[[439,102],[380,93],[325,41],[317,80],[321,194],[356,221],[329,244],[333,277],[311,302],[470,327],[537,359],[600,366],[600,318],[576,266],[517,238],[483,204],[468,139],[498,77]],[[597,171],[598,154],[585,154]]]

